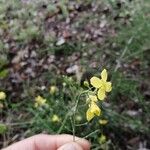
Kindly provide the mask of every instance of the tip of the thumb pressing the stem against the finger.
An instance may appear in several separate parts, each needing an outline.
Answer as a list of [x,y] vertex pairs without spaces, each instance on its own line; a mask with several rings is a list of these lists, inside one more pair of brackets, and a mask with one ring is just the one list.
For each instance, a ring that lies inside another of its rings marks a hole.
[[83,150],[83,148],[78,143],[70,142],[62,145],[57,150]]

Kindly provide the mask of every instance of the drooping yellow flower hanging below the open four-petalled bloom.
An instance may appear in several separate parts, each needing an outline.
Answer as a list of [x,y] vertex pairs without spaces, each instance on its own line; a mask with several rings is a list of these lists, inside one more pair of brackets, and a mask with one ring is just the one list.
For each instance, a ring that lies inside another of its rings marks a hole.
[[87,112],[86,112],[86,118],[88,121],[92,120],[94,116],[100,116],[101,109],[96,105],[95,102],[91,102]]

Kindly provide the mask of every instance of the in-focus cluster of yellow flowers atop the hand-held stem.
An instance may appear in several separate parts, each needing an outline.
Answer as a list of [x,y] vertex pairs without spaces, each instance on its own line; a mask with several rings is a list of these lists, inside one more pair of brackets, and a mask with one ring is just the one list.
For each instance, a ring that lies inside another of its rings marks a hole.
[[92,120],[94,116],[100,116],[101,109],[98,107],[98,100],[103,101],[106,98],[106,92],[112,90],[111,82],[107,82],[107,70],[104,69],[101,72],[101,78],[92,77],[90,79],[91,85],[95,88],[94,92],[90,91],[88,94],[89,108],[86,112],[86,118],[88,121]]

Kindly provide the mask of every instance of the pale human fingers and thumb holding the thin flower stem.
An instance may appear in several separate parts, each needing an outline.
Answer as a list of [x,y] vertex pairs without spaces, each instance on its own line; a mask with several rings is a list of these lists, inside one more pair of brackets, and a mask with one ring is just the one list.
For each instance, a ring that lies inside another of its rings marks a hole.
[[90,143],[68,134],[39,134],[14,143],[2,150],[90,150]]

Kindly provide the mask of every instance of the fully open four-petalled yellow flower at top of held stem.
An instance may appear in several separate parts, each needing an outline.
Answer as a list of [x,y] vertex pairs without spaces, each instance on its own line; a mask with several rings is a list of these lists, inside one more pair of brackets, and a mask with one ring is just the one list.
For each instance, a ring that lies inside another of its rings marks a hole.
[[107,70],[104,69],[101,72],[101,79],[97,77],[92,77],[90,79],[91,85],[98,89],[97,96],[100,100],[104,100],[106,97],[106,92],[112,90],[111,82],[107,82]]

